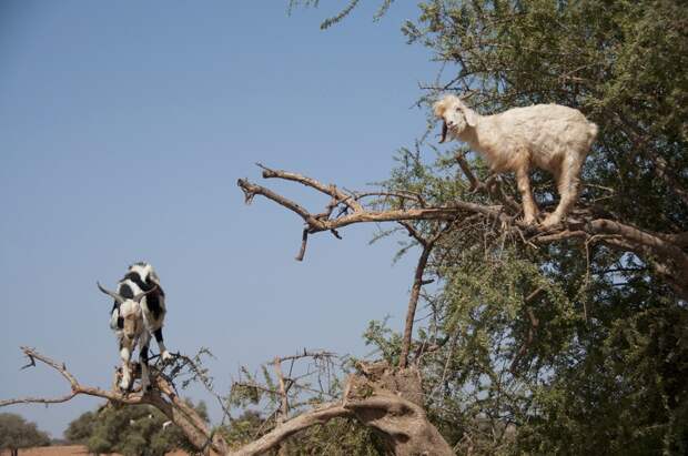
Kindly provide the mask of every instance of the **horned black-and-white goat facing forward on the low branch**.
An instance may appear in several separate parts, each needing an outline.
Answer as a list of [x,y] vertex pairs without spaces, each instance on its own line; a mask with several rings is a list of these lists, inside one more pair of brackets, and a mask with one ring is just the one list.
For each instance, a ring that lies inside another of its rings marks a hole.
[[133,349],[139,346],[141,364],[141,391],[145,393],[150,384],[148,374],[149,345],[151,334],[155,336],[160,356],[169,361],[172,355],[165,348],[162,326],[166,314],[165,294],[160,286],[160,278],[153,266],[148,263],[135,263],[129,266],[124,277],[118,283],[117,293],[98,287],[114,298],[110,316],[110,327],[114,331],[122,358],[122,381],[120,388],[131,387],[130,358]]

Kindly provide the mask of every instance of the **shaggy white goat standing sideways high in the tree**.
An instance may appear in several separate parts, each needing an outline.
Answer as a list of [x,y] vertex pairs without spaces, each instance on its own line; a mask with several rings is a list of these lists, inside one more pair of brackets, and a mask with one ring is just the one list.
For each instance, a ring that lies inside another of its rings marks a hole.
[[552,227],[566,217],[576,203],[580,168],[597,136],[597,125],[580,111],[536,104],[480,115],[455,95],[444,97],[433,108],[435,115],[444,120],[439,142],[449,133],[482,153],[492,171],[516,173],[525,223],[535,223],[537,215],[528,178],[533,165],[554,175],[560,196],[559,205],[543,226]]

